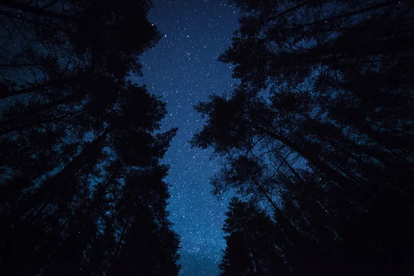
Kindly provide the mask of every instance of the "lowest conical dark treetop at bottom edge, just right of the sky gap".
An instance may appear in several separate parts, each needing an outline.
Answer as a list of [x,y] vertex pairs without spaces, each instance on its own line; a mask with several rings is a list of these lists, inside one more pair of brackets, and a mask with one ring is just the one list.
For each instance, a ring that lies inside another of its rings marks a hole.
[[225,275],[284,275],[288,267],[280,257],[273,221],[259,208],[233,197],[224,232],[224,259],[219,268]]

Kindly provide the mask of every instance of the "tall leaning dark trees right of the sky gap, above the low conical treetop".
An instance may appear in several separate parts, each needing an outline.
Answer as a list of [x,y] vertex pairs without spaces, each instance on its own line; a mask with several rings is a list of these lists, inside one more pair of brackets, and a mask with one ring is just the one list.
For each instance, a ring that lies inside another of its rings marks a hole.
[[413,2],[230,2],[241,82],[193,138],[226,157],[215,193],[266,209],[293,275],[413,272]]

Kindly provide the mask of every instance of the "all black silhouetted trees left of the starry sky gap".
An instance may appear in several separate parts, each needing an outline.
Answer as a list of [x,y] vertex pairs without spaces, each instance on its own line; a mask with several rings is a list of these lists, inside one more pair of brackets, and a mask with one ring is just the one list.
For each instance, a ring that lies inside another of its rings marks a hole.
[[1,5],[1,273],[177,275],[159,162],[177,129],[126,80],[159,39],[150,1]]

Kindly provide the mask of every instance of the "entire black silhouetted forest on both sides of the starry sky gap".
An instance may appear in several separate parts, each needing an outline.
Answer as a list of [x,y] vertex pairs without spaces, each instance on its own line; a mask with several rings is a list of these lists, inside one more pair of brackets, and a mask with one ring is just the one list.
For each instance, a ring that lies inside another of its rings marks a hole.
[[[240,82],[191,141],[237,193],[220,275],[413,274],[414,2],[229,2]],[[128,80],[161,38],[151,7],[1,1],[1,275],[178,275],[177,128]]]

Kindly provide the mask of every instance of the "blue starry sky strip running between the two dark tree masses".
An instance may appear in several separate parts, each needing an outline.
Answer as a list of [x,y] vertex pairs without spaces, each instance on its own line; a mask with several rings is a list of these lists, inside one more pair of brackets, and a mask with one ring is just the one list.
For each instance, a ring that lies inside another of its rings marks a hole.
[[191,148],[188,141],[204,121],[193,109],[208,95],[230,92],[237,83],[233,66],[217,61],[230,46],[237,30],[239,12],[227,1],[154,0],[150,22],[162,33],[161,41],[144,54],[144,77],[148,90],[167,103],[162,129],[179,132],[164,157],[171,168],[170,220],[181,236],[180,276],[217,275],[224,249],[224,213],[232,195],[221,199],[211,194],[209,178],[219,170],[210,150]]

